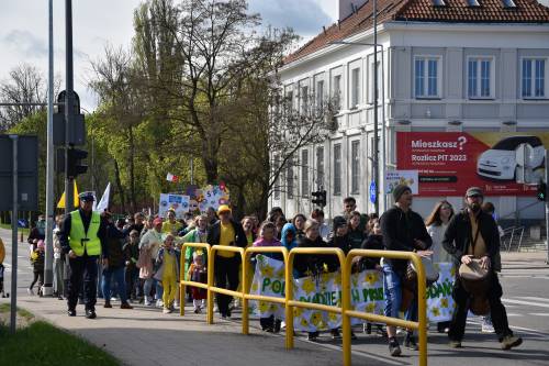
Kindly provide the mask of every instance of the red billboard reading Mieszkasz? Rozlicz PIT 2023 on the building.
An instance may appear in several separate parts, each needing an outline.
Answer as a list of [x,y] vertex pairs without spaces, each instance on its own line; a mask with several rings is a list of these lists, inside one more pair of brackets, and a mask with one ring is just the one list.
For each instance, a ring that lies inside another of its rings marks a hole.
[[397,132],[396,168],[418,170],[419,196],[535,196],[548,132]]

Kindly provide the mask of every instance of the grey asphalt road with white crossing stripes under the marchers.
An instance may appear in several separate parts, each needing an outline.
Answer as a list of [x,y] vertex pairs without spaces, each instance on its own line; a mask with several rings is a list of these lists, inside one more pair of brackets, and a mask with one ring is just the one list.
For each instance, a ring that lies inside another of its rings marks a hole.
[[[4,287],[10,292],[11,233],[0,230],[0,236],[7,248]],[[18,258],[18,293],[25,295],[32,280],[26,243],[19,244]],[[549,365],[549,266],[541,260],[511,260],[504,262],[503,267],[503,302],[512,330],[524,339],[523,345],[512,352],[502,351],[496,336],[481,333],[480,318],[472,317],[468,321],[461,350],[449,348],[446,334],[433,331],[432,326],[428,335],[429,365],[486,366],[486,363],[493,362],[497,363],[496,366]],[[359,337],[352,342],[355,365],[365,364],[365,361],[372,365],[418,364],[417,352],[403,347],[402,357],[390,357],[385,339],[367,335],[360,329],[355,331]],[[299,336],[304,339],[304,335]],[[329,334],[322,334],[318,346],[339,352],[340,341],[332,341]]]

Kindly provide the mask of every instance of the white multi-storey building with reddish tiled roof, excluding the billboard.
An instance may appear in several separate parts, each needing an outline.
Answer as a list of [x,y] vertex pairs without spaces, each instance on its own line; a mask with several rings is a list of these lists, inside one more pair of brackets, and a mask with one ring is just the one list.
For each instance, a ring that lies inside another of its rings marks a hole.
[[[497,9],[494,1],[477,1],[481,8],[469,2],[378,1],[378,117],[386,147],[380,151],[380,179],[383,166],[395,168],[399,131],[549,131],[549,9],[527,0],[512,1],[514,7],[501,1]],[[285,189],[271,195],[269,206],[288,217],[309,214],[311,191],[321,187],[326,217],[340,213],[348,196],[360,212],[373,211],[373,46],[357,44],[373,43],[371,5],[352,5],[350,15],[290,55],[280,70],[294,108],[314,102],[303,100],[306,95],[340,100],[337,132],[301,149],[299,164],[284,170]],[[380,196],[382,211],[392,198]],[[440,199],[461,207],[462,197],[419,196],[414,209],[426,217]],[[535,197],[490,201],[501,218],[544,218]]]

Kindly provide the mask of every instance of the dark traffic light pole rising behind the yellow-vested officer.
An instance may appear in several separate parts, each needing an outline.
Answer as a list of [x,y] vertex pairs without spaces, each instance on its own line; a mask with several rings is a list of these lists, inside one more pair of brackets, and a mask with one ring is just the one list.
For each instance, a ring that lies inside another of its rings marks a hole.
[[75,115],[75,86],[72,69],[72,0],[65,0],[65,30],[66,30],[66,96],[65,96],[65,213],[74,208],[74,177],[69,176],[69,126]]

